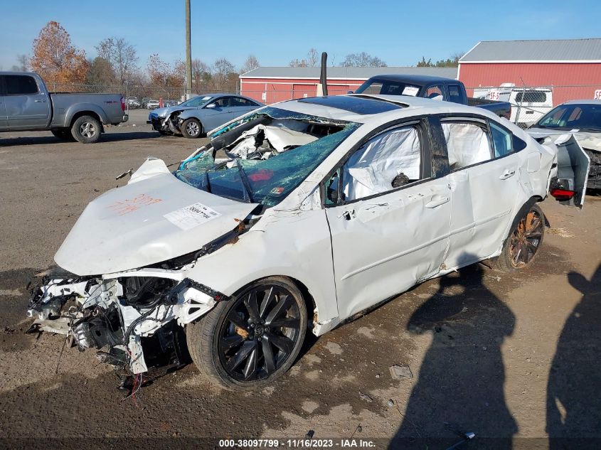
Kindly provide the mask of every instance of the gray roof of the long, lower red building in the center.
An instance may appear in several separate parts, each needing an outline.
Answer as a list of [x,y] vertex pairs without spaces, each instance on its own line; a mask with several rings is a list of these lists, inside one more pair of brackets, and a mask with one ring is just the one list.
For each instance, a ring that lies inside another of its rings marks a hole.
[[[319,79],[321,69],[291,67],[260,67],[243,73],[240,78],[307,78]],[[328,80],[367,80],[375,75],[434,75],[437,77],[457,78],[457,68],[346,68],[329,67]]]

